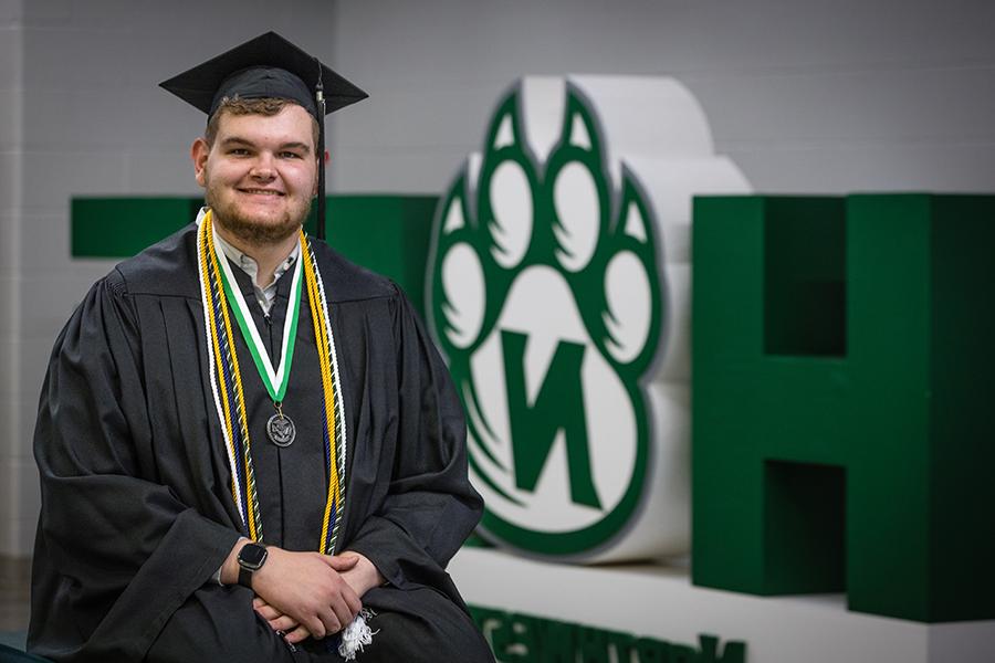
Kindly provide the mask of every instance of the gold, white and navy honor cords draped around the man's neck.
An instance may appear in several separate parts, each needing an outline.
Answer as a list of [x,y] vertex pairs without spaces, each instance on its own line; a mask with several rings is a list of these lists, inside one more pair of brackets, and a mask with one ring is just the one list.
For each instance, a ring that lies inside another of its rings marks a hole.
[[[252,469],[244,391],[242,389],[241,370],[237,352],[231,343],[233,329],[228,308],[234,305],[230,297],[226,297],[223,285],[224,276],[222,270],[227,265],[221,262],[224,259],[218,255],[214,248],[210,210],[202,214],[199,223],[198,266],[210,364],[211,391],[214,397],[214,406],[218,410],[218,418],[221,422],[228,451],[232,481],[231,494],[250,537],[253,540],[262,540],[262,519],[260,517],[259,496]],[[322,415],[325,423],[322,436],[324,439],[325,459],[328,461],[328,491],[322,518],[322,538],[318,549],[321,552],[331,555],[335,550],[342,506],[344,504],[345,425],[342,415],[343,403],[335,360],[335,343],[328,324],[324,284],[321,281],[321,274],[317,271],[308,238],[303,232],[301,232],[301,246],[300,260],[304,263],[304,282],[307,287],[307,299],[311,307],[312,322],[314,323],[318,366],[322,375],[322,392],[324,397]],[[297,297],[300,297],[301,288],[297,287],[295,290]],[[300,299],[297,305],[300,306]],[[249,343],[248,339],[247,343]],[[287,346],[287,339],[284,339],[284,347]],[[292,341],[290,347],[293,348]],[[281,364],[284,362],[282,361]],[[289,362],[286,362],[286,366],[289,368]],[[263,376],[260,376],[260,378],[262,379]],[[265,382],[265,380],[263,381]],[[283,390],[285,390],[285,381],[283,387]]]

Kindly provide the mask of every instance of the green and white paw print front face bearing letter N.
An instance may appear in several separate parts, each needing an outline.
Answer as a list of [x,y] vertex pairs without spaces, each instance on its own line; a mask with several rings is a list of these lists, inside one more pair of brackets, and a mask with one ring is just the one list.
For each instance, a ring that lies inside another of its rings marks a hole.
[[[558,96],[555,122],[528,93]],[[489,538],[604,558],[646,511],[670,309],[657,235],[650,197],[610,158],[579,88],[507,94],[440,204],[429,261],[428,315],[468,414]]]

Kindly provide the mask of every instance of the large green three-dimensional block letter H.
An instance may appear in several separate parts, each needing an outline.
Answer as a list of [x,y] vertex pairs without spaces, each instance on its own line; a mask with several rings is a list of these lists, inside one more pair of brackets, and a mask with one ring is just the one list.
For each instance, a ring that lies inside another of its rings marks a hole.
[[703,198],[693,233],[694,583],[995,618],[995,198]]

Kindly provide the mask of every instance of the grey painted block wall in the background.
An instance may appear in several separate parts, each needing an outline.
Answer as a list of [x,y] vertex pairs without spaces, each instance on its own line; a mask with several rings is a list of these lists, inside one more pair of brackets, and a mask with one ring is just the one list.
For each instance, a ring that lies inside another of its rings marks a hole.
[[371,94],[332,116],[341,192],[440,192],[507,85],[564,73],[678,77],[758,191],[991,192],[993,19],[983,0],[0,0],[0,555],[33,541],[52,341],[112,265],[70,261],[70,198],[198,191],[203,118],[159,81],[268,29],[312,50]]

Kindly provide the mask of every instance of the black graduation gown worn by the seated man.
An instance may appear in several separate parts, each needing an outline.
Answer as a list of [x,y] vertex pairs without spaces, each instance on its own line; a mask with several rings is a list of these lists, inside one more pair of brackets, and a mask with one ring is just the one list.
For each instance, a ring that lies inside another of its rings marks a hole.
[[[481,513],[446,366],[392,283],[324,243],[315,243],[315,253],[346,414],[346,504],[336,549],[366,555],[389,583],[370,590],[364,604],[385,613],[375,627],[395,632],[377,634],[367,652],[417,631],[408,622],[388,629],[391,619],[408,619],[428,624],[415,636],[421,646],[442,638],[474,650],[465,660],[485,660],[444,571]],[[235,273],[254,305],[251,283]],[[272,325],[254,306],[271,352],[280,346],[289,282],[289,274],[280,280]],[[283,409],[297,440],[279,450],[264,433],[273,404],[235,333],[264,538],[316,550],[327,480],[306,293],[295,343]],[[252,612],[249,590],[211,581],[245,532],[208,372],[191,224],[97,282],[55,343],[34,438],[42,509],[32,653],[56,661],[289,655]],[[458,651],[449,655],[463,660]],[[302,656],[308,654],[286,660]]]

